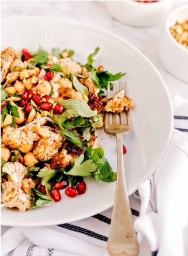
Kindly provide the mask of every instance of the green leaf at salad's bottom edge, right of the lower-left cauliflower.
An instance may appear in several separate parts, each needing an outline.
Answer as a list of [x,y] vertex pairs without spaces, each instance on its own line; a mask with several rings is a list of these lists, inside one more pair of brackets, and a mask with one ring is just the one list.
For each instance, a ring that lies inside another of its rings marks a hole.
[[41,193],[38,189],[32,188],[32,192],[34,194],[34,200],[32,200],[33,197],[31,196],[30,201],[33,203],[34,206],[32,206],[29,210],[32,210],[32,209],[41,207],[44,204],[48,204],[50,202],[53,202],[52,199],[47,197],[47,195]]

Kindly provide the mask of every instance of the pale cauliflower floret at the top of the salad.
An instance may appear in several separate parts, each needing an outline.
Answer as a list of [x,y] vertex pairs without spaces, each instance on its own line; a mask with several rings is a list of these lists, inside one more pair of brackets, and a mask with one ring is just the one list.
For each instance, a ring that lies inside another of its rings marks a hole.
[[[57,63],[70,70],[71,72],[75,73],[75,74],[81,74],[82,73],[82,67],[77,64],[77,62],[74,61],[74,59],[71,59],[71,58],[61,58],[61,59],[58,59]],[[66,71],[66,70],[63,70],[68,76],[69,76],[69,72]]]

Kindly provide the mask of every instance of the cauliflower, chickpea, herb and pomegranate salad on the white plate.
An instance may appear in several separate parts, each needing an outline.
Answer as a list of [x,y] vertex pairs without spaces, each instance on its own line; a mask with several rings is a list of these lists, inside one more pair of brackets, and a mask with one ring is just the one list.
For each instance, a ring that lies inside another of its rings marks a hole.
[[97,144],[103,109],[118,113],[133,107],[118,92],[105,98],[112,74],[93,65],[99,48],[82,65],[74,51],[41,47],[20,54],[1,52],[1,206],[20,212],[59,202],[86,191],[84,177],[114,182],[117,174]]

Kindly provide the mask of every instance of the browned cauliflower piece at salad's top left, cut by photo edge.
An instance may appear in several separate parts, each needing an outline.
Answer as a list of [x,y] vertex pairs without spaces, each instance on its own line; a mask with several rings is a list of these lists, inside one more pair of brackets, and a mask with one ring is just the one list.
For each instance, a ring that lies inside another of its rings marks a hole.
[[17,57],[18,52],[15,51],[12,47],[8,47],[1,52],[1,83],[3,83],[6,80],[10,64]]

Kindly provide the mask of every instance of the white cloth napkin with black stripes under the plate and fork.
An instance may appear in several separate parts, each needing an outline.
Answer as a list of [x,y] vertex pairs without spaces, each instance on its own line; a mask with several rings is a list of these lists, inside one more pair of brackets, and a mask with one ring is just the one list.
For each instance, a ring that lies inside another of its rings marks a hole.
[[[130,197],[139,256],[188,255],[188,102],[180,96],[172,101],[176,129],[167,152],[153,176]],[[111,215],[112,208],[52,227],[11,228],[2,236],[1,255],[108,256]]]

